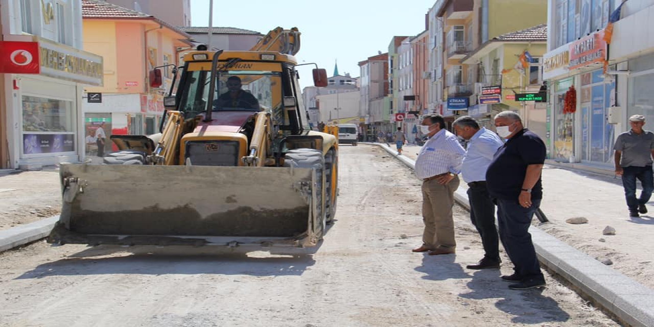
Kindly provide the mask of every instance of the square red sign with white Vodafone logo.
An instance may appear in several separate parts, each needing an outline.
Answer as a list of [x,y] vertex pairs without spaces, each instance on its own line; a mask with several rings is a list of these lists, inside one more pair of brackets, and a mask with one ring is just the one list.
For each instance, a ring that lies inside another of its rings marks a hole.
[[41,73],[39,43],[0,41],[0,73]]

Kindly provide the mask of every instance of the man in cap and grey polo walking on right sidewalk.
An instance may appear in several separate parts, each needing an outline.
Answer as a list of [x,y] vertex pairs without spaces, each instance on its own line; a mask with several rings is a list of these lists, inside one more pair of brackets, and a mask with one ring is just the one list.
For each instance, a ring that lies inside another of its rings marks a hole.
[[[615,150],[615,175],[622,176],[629,216],[647,213],[645,203],[654,190],[652,156],[654,156],[654,133],[643,129],[645,117],[634,114],[629,117],[631,129],[618,135]],[[643,186],[640,198],[636,198],[636,179]]]

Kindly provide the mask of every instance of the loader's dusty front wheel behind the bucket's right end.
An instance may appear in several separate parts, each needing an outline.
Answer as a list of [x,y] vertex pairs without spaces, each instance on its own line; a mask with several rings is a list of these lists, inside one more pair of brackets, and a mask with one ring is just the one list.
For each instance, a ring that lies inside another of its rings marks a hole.
[[317,170],[318,182],[313,192],[317,192],[316,198],[319,203],[316,207],[317,217],[315,217],[317,226],[314,229],[318,239],[322,239],[325,232],[325,206],[323,205],[325,197],[323,182],[325,181],[325,158],[322,157],[322,152],[312,148],[289,150],[284,155],[284,167],[315,168]]

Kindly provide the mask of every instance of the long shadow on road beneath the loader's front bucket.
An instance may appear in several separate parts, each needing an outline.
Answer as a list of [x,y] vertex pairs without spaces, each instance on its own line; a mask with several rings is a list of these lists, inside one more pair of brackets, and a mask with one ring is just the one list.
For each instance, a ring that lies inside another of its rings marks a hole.
[[302,275],[307,267],[315,264],[313,254],[269,254],[260,248],[255,252],[191,247],[167,247],[158,248],[156,252],[150,251],[153,248],[122,248],[120,252],[115,246],[94,247],[61,260],[41,264],[17,279],[105,274],[286,276]]

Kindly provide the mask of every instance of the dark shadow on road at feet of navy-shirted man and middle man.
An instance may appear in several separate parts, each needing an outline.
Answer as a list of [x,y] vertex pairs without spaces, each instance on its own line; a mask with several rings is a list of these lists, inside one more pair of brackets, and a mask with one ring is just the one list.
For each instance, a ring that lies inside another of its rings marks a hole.
[[459,294],[461,298],[482,300],[498,298],[495,307],[513,315],[515,324],[542,324],[546,322],[565,322],[570,315],[559,307],[559,303],[549,296],[543,296],[543,288],[532,290],[511,290],[510,283],[500,280],[500,271],[485,269],[475,271],[468,282],[469,293]]

